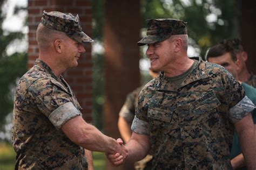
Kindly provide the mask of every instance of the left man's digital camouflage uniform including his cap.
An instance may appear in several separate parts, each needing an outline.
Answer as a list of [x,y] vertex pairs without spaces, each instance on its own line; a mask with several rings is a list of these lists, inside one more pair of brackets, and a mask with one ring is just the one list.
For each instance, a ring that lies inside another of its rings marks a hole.
[[[41,23],[62,31],[77,42],[91,42],[80,27],[78,16],[45,12]],[[62,76],[37,59],[17,84],[12,144],[17,153],[15,169],[87,169],[85,150],[60,129],[82,116],[80,105]]]

